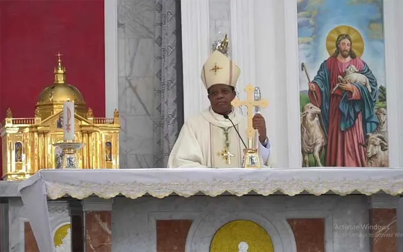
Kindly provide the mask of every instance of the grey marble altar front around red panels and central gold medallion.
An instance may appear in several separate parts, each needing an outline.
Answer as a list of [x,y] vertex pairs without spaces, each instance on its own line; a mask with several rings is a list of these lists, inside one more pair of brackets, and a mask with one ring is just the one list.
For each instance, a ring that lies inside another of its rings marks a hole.
[[[396,198],[397,200],[398,198]],[[112,206],[112,250],[156,250],[156,220],[193,220],[186,251],[208,251],[211,239],[225,223],[248,219],[270,234],[276,251],[296,251],[290,218],[324,218],[326,251],[369,251],[369,229],[343,229],[369,223],[366,196],[244,196],[190,198],[114,198]],[[349,237],[349,238],[345,238]],[[190,248],[191,247],[191,248]]]

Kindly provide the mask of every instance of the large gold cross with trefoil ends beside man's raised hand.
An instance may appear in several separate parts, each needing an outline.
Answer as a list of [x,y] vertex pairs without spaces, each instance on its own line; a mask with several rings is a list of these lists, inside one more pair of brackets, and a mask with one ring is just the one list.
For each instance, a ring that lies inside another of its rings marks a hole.
[[246,133],[248,135],[248,138],[251,139],[254,137],[252,123],[252,119],[254,116],[254,107],[260,106],[261,108],[266,108],[268,106],[268,101],[266,99],[261,99],[260,101],[253,100],[253,92],[255,90],[255,87],[253,87],[251,84],[247,85],[244,90],[247,94],[246,101],[240,101],[238,97],[235,97],[235,99],[232,100],[231,104],[234,107],[246,106],[246,108],[248,109],[248,129]]

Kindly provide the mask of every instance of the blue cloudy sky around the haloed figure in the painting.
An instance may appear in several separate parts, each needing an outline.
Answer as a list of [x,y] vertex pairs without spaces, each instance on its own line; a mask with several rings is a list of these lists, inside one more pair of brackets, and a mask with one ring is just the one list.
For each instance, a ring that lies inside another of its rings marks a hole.
[[[364,54],[379,85],[385,85],[385,49],[382,0],[297,0],[299,65],[308,67],[313,79],[320,64],[329,57],[326,37],[339,25],[357,29],[364,38]],[[354,46],[354,44],[353,44]],[[307,78],[300,71],[300,90],[308,88]]]

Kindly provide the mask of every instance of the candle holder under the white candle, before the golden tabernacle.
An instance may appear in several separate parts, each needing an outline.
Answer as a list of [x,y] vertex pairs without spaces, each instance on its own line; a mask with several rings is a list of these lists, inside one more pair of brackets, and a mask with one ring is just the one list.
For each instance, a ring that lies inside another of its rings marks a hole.
[[79,169],[79,162],[77,158],[77,150],[82,149],[84,143],[75,142],[63,142],[55,143],[54,147],[59,147],[61,149],[62,163],[61,169]]

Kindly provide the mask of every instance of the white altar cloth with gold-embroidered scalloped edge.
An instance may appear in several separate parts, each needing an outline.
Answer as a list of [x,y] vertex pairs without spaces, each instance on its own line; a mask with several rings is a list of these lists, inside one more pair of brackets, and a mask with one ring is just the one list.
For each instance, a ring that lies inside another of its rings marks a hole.
[[91,195],[136,199],[149,194],[164,198],[173,193],[190,197],[197,193],[215,197],[225,192],[242,196],[249,192],[294,196],[306,191],[313,195],[355,192],[371,195],[384,191],[403,193],[400,168],[268,168],[268,169],[55,169],[40,170],[22,181],[19,192],[40,251],[54,251],[47,198]]

